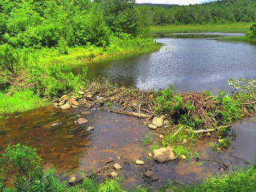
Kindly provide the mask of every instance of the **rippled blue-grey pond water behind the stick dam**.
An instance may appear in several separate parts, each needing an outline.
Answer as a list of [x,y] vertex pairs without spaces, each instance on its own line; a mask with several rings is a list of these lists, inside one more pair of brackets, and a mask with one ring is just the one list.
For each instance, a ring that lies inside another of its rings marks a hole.
[[90,79],[104,77],[142,90],[173,84],[181,91],[231,91],[229,78],[256,78],[256,46],[251,44],[215,38],[157,38],[156,41],[163,44],[157,52],[92,63]]

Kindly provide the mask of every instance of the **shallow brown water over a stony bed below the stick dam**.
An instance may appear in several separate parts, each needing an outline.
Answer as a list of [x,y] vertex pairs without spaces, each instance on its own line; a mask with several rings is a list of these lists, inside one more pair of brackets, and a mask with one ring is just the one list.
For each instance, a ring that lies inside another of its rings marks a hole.
[[[218,137],[211,136],[191,146],[200,154],[199,159],[192,157],[156,163],[148,157],[151,145],[144,145],[137,140],[144,139],[147,133],[157,140],[163,128],[149,130],[138,117],[96,109],[91,109],[88,114],[81,114],[82,111],[84,107],[68,110],[49,107],[3,117],[0,120],[1,152],[7,145],[18,142],[35,147],[47,166],[53,165],[62,179],[104,166],[108,168],[99,172],[99,175],[108,175],[114,171],[114,163],[120,163],[123,169],[116,172],[123,175],[125,187],[141,184],[149,188],[163,186],[170,179],[192,184],[215,172],[245,166],[254,159],[255,117],[244,119],[231,127],[230,148],[220,154],[216,154],[211,147]],[[75,124],[78,114],[88,122]],[[87,131],[87,126],[93,126],[94,130]],[[109,160],[114,161],[107,163]],[[136,165],[136,160],[143,160],[145,165]],[[145,177],[147,170],[154,172],[154,178]]]

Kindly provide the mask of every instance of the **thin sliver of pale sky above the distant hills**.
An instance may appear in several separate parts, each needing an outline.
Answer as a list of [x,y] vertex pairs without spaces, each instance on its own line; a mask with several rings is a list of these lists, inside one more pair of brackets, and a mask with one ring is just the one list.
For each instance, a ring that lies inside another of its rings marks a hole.
[[136,0],[136,3],[190,5],[215,1],[216,0]]

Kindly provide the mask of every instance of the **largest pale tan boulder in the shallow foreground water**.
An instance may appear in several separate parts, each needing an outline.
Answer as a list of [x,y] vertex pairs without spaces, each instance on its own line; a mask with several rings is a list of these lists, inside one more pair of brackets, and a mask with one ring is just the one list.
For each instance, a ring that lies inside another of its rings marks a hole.
[[173,154],[172,148],[155,149],[153,151],[153,157],[154,160],[157,160],[160,163],[176,159],[175,155]]

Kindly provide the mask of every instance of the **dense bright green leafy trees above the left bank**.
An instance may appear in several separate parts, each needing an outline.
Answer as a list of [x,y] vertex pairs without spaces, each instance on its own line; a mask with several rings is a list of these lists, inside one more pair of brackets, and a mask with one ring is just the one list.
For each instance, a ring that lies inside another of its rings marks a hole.
[[148,23],[142,12],[133,0],[0,1],[0,44],[107,46],[111,35],[147,36]]

